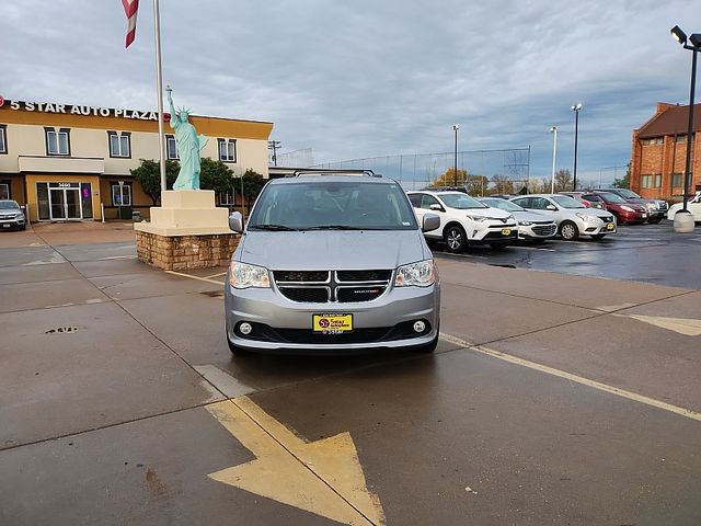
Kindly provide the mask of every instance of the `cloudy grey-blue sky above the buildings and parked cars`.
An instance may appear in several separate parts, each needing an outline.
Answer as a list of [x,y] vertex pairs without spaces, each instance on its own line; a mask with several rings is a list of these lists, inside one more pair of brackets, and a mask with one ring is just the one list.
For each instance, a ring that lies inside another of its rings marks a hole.
[[[5,99],[154,108],[153,30],[141,0],[124,49],[119,0],[5,2]],[[630,160],[631,132],[657,101],[688,103],[701,32],[692,0],[161,0],[163,79],[196,114],[275,123],[283,152],[317,162],[531,147],[532,175]],[[605,181],[613,171],[604,170]]]

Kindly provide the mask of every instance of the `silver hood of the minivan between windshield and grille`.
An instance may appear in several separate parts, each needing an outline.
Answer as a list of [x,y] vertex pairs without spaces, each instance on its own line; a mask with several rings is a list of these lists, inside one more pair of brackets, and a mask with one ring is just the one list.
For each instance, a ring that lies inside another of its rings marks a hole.
[[234,260],[271,270],[395,268],[430,258],[420,230],[249,231]]

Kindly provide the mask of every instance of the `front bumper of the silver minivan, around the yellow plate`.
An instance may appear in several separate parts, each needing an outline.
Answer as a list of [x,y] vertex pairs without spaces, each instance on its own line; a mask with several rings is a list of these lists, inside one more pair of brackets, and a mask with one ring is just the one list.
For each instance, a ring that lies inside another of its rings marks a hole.
[[[271,288],[237,289],[225,285],[227,338],[251,351],[313,351],[334,353],[380,348],[411,348],[427,345],[439,331],[440,288],[390,287],[372,301],[297,302]],[[314,333],[312,317],[322,313],[353,315],[353,331]],[[415,332],[414,322],[426,329]],[[244,335],[242,322],[253,327]]]

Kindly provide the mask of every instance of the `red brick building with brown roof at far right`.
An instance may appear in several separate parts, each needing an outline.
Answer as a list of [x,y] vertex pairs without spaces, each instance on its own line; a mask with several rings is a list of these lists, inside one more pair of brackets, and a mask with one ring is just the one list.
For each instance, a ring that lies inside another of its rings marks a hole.
[[[701,191],[701,149],[696,140],[701,130],[701,104],[694,104],[691,142],[690,192]],[[631,190],[643,197],[683,194],[689,106],[657,103],[655,115],[633,130]]]

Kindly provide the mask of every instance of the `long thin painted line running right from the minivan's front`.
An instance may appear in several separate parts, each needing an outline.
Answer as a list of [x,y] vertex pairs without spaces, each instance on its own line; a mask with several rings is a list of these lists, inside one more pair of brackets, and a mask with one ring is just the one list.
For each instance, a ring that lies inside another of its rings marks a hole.
[[499,351],[482,347],[480,345],[473,345],[470,342],[461,340],[457,336],[452,336],[450,334],[446,334],[445,332],[440,333],[440,338],[443,338],[445,341],[449,343],[461,345],[476,353],[486,354],[487,356],[492,356],[493,358],[503,359],[504,362],[509,362],[512,364],[520,365],[522,367],[540,370],[541,373],[545,373],[552,376],[558,376],[566,380],[576,381],[577,384],[582,384],[583,386],[591,387],[594,389],[598,389],[600,391],[605,391],[610,395],[616,395],[617,397],[634,400],[636,402],[644,403],[653,408],[662,409],[664,411],[669,411],[670,413],[679,414],[680,416],[686,416],[687,419],[697,420],[701,422],[701,413],[698,413],[697,411],[692,411],[687,408],[673,405],[671,403],[663,402],[660,400],[655,400],[654,398],[645,397],[644,395],[639,395],[636,392],[627,391],[625,389],[619,389],[618,387],[608,386],[606,384],[601,384],[600,381],[591,380],[583,376],[573,375],[572,373],[567,373],[565,370],[555,369],[554,367],[548,367],[547,365],[519,358],[517,356],[505,354]]

